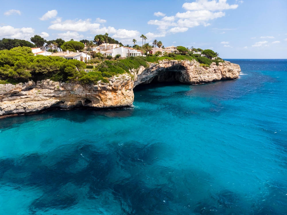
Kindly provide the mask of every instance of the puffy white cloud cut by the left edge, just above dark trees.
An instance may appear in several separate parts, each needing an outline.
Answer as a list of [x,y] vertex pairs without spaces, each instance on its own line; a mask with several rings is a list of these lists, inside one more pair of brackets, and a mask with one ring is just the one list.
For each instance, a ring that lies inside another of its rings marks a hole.
[[14,28],[12,26],[0,26],[0,37],[1,38],[12,38],[12,39],[24,39],[30,40],[34,35],[33,28]]

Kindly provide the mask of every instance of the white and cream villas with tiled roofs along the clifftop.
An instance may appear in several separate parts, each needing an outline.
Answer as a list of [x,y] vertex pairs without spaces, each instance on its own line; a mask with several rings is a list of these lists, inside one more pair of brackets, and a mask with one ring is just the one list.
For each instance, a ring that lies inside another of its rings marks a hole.
[[[49,52],[48,50],[56,50],[56,53]],[[32,48],[32,52],[34,55],[44,55],[44,56],[58,56],[58,57],[63,57],[67,60],[78,60],[78,61],[89,61],[91,59],[91,56],[87,54],[87,46],[85,46],[84,50],[86,50],[86,53],[83,52],[69,52],[69,50],[63,52],[59,47],[53,46],[53,44],[46,45],[45,47],[41,48]],[[143,51],[129,48],[129,47],[124,47],[119,44],[110,44],[110,43],[104,43],[99,45],[98,47],[93,47],[92,49],[93,52],[95,53],[101,53],[105,56],[112,56],[115,57],[116,55],[120,55],[122,58],[125,57],[136,57],[136,56],[145,56]],[[156,53],[157,51],[160,51],[162,54],[163,53],[176,53],[177,52],[177,47],[175,46],[169,46],[164,49],[154,47],[152,48],[151,53]],[[208,57],[206,55],[202,55],[201,52],[193,52],[193,54],[199,54],[201,57]]]

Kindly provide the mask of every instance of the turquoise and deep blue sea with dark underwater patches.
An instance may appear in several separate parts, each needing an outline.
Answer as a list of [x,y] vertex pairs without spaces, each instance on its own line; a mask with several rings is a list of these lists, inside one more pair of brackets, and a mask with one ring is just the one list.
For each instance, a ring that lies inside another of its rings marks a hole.
[[0,214],[287,214],[287,60],[0,120]]

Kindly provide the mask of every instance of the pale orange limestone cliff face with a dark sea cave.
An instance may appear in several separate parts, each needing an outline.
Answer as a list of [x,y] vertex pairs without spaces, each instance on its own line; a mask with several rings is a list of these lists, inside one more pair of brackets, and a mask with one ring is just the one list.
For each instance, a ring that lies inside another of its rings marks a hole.
[[25,84],[0,84],[0,116],[38,112],[60,107],[123,107],[133,104],[133,88],[138,84],[156,81],[180,81],[199,84],[222,79],[236,79],[241,69],[225,61],[216,66],[201,67],[196,61],[160,61],[149,68],[133,69],[131,74],[109,78],[110,83],[99,81],[96,85],[76,83],[28,82]]

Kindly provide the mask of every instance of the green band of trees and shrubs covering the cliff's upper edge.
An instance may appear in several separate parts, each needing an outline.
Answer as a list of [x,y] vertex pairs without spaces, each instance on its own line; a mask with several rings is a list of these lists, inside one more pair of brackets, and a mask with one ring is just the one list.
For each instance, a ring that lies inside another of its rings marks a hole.
[[162,60],[193,60],[190,55],[169,54],[164,57],[128,57],[115,61],[103,61],[93,71],[86,73],[86,64],[77,60],[66,60],[62,57],[34,56],[29,47],[16,47],[0,51],[0,84],[17,84],[29,80],[40,81],[79,81],[80,83],[96,83],[99,80],[108,82],[108,78],[141,66],[148,67],[149,63]]

